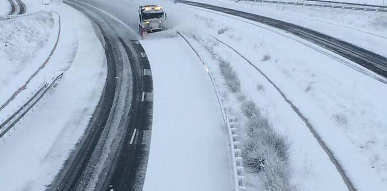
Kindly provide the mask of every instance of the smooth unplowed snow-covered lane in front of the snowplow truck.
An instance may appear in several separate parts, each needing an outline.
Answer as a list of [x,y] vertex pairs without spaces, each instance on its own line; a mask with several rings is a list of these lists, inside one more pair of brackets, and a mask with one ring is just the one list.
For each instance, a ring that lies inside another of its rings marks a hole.
[[227,133],[201,61],[179,37],[141,44],[154,83],[144,190],[233,190]]

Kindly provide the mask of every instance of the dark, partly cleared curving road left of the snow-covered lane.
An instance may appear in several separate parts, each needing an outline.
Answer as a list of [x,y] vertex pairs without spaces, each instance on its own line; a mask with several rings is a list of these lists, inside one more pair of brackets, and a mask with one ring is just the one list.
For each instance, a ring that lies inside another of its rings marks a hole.
[[138,35],[110,14],[85,2],[64,2],[89,17],[100,33],[108,74],[84,137],[48,190],[139,190],[153,107],[145,51]]

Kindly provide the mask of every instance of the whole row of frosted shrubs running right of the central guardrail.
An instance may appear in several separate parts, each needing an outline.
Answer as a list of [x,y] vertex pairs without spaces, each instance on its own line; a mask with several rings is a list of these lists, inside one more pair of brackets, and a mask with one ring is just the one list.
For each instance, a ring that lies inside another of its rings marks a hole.
[[[222,34],[227,28],[218,30]],[[235,93],[240,105],[240,112],[244,115],[245,127],[243,130],[244,141],[242,156],[244,164],[254,174],[260,176],[264,190],[291,190],[289,183],[289,144],[287,139],[276,132],[271,122],[261,115],[255,101],[247,100],[244,92],[241,92],[241,82],[237,72],[231,64],[223,59],[215,50],[219,42],[193,35],[193,38],[201,44],[215,60],[228,90]],[[234,106],[235,107],[235,106]],[[231,114],[232,115],[232,114]],[[242,119],[243,119],[242,118]],[[239,141],[239,139],[238,139]],[[253,180],[254,181],[254,180]]]

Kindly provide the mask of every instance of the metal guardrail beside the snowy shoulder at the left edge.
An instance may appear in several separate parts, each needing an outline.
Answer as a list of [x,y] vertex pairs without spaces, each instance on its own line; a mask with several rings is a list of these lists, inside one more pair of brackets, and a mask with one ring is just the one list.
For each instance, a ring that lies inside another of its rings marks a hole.
[[55,77],[50,83],[43,83],[38,91],[28,99],[16,112],[8,117],[2,124],[0,124],[0,138],[3,137],[16,123],[22,119],[28,111],[35,106],[35,104],[44,96],[44,94],[55,84],[55,82],[63,76],[63,73]]

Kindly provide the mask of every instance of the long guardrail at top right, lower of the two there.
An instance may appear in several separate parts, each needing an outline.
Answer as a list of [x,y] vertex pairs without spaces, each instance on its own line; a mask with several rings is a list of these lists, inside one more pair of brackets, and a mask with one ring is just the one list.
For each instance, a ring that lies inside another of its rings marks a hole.
[[346,10],[358,10],[358,11],[374,11],[374,12],[387,12],[387,6],[367,5],[367,4],[353,4],[345,2],[333,2],[333,1],[272,1],[272,0],[236,0],[236,2],[260,2],[279,5],[295,5],[295,6],[310,6],[321,8],[335,8]]

